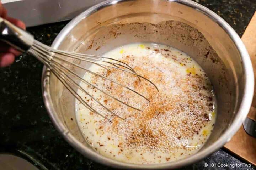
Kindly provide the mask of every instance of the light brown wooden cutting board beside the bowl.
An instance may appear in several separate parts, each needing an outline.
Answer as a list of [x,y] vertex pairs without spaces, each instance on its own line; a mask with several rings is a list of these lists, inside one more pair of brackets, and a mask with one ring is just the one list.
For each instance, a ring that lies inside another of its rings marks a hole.
[[[252,66],[254,68],[254,78],[256,80],[256,12],[254,16],[252,16],[245,33],[242,35],[242,41],[251,57]],[[247,117],[256,120],[256,90],[254,90],[252,106]],[[224,148],[256,166],[256,138],[248,135],[243,126],[241,126],[233,138],[224,145]]]

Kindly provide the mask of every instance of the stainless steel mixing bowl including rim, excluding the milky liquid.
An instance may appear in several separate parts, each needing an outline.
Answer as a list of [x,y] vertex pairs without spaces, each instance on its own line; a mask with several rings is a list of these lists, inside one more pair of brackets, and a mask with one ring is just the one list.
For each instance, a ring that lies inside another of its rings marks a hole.
[[44,68],[44,103],[65,140],[92,160],[127,169],[178,168],[203,159],[228,142],[249,112],[254,89],[250,57],[235,31],[217,14],[189,0],[108,0],[70,21],[52,47],[102,55],[131,42],[173,46],[203,67],[218,106],[209,140],[198,153],[176,162],[138,165],[106,158],[92,150],[81,135],[75,119],[75,97]]

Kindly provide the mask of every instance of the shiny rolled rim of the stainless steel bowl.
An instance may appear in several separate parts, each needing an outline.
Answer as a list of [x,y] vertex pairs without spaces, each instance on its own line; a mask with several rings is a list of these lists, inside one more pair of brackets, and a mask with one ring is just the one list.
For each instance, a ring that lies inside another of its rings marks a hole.
[[[107,0],[104,2],[101,2],[99,4],[96,4],[86,11],[82,12],[80,15],[72,19],[58,34],[58,36],[55,38],[55,40],[52,43],[52,47],[57,49],[58,46],[61,44],[63,39],[66,35],[78,24],[82,19],[90,16],[92,13],[100,10],[101,8],[104,8],[106,6],[110,6],[119,2],[123,1],[131,1],[131,0]],[[245,87],[244,87],[244,93],[242,96],[241,104],[239,106],[239,109],[237,111],[236,116],[234,117],[234,121],[229,125],[229,128],[226,129],[224,134],[219,137],[217,141],[215,141],[212,145],[205,148],[200,153],[196,153],[191,155],[188,158],[178,160],[175,162],[167,162],[167,163],[161,163],[161,164],[131,164],[131,163],[124,163],[120,162],[111,158],[107,158],[101,154],[96,153],[92,149],[84,146],[81,142],[76,140],[76,138],[71,135],[71,133],[68,131],[68,129],[61,123],[58,115],[56,114],[53,103],[50,97],[50,89],[49,89],[49,68],[46,66],[43,67],[42,72],[42,94],[43,94],[43,101],[46,106],[47,112],[52,119],[53,124],[55,125],[55,128],[62,134],[62,136],[65,138],[68,143],[73,146],[77,151],[85,155],[87,158],[90,158],[92,160],[95,160],[96,162],[99,162],[101,164],[105,164],[107,166],[112,166],[115,168],[123,168],[123,169],[167,169],[167,168],[179,168],[182,166],[186,166],[189,164],[192,164],[194,162],[197,162],[208,155],[212,154],[213,152],[220,149],[226,142],[230,141],[231,137],[238,131],[240,126],[242,125],[243,121],[245,120],[247,113],[249,113],[252,98],[253,98],[253,90],[254,90],[254,72],[252,68],[252,63],[250,60],[250,56],[238,36],[238,34],[235,32],[235,30],[222,19],[219,17],[216,13],[209,10],[208,8],[190,1],[190,0],[167,0],[172,2],[177,2],[189,7],[192,7],[200,12],[203,12],[205,15],[207,15],[209,18],[214,20],[216,23],[219,24],[220,27],[222,27],[225,32],[230,36],[231,40],[234,42],[236,48],[238,49],[241,59],[242,59],[242,66],[243,71],[245,75]]]

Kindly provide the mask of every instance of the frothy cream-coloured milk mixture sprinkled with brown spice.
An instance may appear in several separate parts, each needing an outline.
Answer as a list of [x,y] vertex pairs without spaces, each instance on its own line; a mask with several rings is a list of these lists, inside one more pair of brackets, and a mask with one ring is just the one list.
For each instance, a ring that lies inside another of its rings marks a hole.
[[76,121],[87,143],[98,153],[135,164],[165,163],[192,155],[204,145],[215,123],[213,88],[203,69],[186,53],[159,44],[129,44],[107,52],[129,64],[130,73],[97,65],[90,70],[127,85],[149,99],[102,77],[86,73],[84,79],[140,111],[81,83],[113,116],[82,91],[84,100],[107,119],[76,103]]

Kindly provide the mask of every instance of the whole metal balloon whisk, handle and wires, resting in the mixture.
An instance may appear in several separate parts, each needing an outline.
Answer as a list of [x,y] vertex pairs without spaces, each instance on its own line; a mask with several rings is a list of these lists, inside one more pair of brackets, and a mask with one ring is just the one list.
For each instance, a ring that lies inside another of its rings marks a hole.
[[89,86],[92,86],[102,92],[103,94],[111,97],[114,100],[117,100],[118,102],[133,108],[135,110],[140,111],[139,108],[136,108],[134,106],[131,106],[118,98],[114,97],[110,93],[100,89],[99,87],[95,86],[94,84],[90,83],[89,81],[83,79],[80,75],[75,73],[73,70],[71,70],[68,67],[63,66],[63,63],[68,64],[69,66],[72,66],[77,69],[84,70],[86,73],[90,73],[92,75],[101,77],[103,79],[106,79],[108,81],[113,82],[116,85],[122,86],[126,88],[127,90],[130,90],[134,92],[135,94],[143,97],[146,101],[150,102],[148,98],[140,94],[139,92],[131,89],[130,87],[123,85],[121,83],[118,83],[115,80],[112,80],[110,78],[107,78],[103,75],[100,75],[98,73],[92,72],[88,68],[81,66],[79,64],[76,64],[74,62],[71,62],[70,59],[78,60],[78,61],[84,61],[91,64],[96,64],[99,67],[102,67],[103,69],[118,69],[123,72],[129,73],[131,75],[137,76],[139,81],[141,79],[144,79],[148,81],[150,84],[152,84],[157,91],[158,88],[156,85],[150,81],[149,79],[137,74],[135,70],[130,67],[128,64],[108,57],[102,57],[97,55],[88,55],[88,54],[81,54],[81,53],[74,53],[74,52],[66,52],[62,50],[53,49],[52,47],[49,47],[47,45],[42,44],[41,42],[34,40],[33,35],[30,33],[14,26],[10,22],[6,21],[5,19],[2,19],[0,17],[0,40],[5,41],[7,44],[10,44],[11,46],[15,47],[16,49],[27,52],[32,54],[34,57],[36,57],[39,61],[41,61],[43,64],[45,64],[51,72],[62,82],[62,84],[71,92],[71,94],[80,102],[82,103],[87,109],[89,109],[91,112],[96,113],[100,115],[101,117],[108,119],[98,111],[96,111],[92,106],[90,106],[84,98],[82,98],[78,92],[77,89],[84,92],[86,95],[90,96],[95,102],[100,104],[104,109],[106,109],[108,112],[113,114],[114,116],[121,118],[124,120],[124,118],[120,117],[116,113],[112,112],[109,108],[107,108],[104,104],[102,104],[100,101],[98,101],[92,94],[89,94],[77,81],[83,82]]

